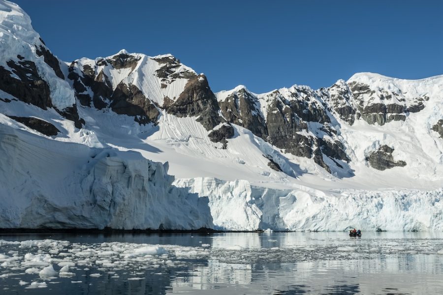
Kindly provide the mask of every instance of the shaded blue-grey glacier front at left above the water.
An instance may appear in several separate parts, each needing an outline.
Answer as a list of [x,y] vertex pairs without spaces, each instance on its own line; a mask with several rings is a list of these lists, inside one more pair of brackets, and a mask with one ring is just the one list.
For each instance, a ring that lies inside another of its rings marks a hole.
[[[207,198],[134,151],[61,143],[0,125],[0,228],[212,228]],[[7,179],[7,185],[4,180]]]

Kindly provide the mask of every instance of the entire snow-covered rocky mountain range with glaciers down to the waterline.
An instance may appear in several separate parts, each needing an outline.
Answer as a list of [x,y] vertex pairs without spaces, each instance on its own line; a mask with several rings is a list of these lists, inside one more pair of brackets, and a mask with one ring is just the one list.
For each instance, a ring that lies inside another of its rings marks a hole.
[[443,230],[443,75],[214,93],[172,55],[64,62],[5,0],[0,43],[2,228]]

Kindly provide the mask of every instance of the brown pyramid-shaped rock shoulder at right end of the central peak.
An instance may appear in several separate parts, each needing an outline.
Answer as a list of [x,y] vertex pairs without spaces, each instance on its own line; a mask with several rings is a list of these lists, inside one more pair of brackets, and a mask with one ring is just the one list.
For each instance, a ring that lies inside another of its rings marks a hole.
[[211,130],[224,121],[219,116],[217,99],[205,76],[190,79],[179,97],[165,109],[177,117],[198,116],[197,121],[206,130]]

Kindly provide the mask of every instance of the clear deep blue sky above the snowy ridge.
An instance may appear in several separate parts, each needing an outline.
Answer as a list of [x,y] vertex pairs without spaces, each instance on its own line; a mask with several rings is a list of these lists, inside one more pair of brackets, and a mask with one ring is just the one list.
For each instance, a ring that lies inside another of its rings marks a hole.
[[443,1],[16,0],[55,55],[171,53],[214,91],[443,74]]

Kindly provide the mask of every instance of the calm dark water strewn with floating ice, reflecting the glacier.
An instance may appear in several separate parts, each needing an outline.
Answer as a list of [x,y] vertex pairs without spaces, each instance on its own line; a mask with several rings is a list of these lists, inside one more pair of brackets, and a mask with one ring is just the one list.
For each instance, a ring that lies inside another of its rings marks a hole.
[[443,235],[0,235],[0,294],[437,295]]

